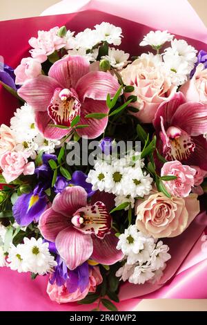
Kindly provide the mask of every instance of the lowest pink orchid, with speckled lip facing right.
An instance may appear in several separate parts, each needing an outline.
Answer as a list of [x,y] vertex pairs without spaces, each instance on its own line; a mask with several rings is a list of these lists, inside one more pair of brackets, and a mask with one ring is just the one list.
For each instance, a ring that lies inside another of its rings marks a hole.
[[123,254],[116,249],[118,239],[111,231],[111,216],[102,202],[87,205],[83,187],[66,187],[55,196],[52,207],[39,219],[41,234],[55,242],[70,270],[88,259],[111,265]]

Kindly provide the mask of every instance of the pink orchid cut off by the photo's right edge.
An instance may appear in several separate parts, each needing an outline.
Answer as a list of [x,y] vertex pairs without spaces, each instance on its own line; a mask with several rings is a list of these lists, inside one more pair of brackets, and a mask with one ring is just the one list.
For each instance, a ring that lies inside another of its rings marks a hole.
[[153,121],[166,160],[179,160],[207,170],[207,107],[186,102],[180,92],[159,106]]

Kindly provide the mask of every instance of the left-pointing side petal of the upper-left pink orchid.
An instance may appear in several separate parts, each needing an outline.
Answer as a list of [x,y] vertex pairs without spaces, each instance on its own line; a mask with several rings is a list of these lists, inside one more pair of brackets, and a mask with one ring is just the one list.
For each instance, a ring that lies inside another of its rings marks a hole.
[[59,84],[56,80],[39,75],[37,78],[27,80],[18,91],[18,95],[23,98],[35,111],[46,111],[50,100]]

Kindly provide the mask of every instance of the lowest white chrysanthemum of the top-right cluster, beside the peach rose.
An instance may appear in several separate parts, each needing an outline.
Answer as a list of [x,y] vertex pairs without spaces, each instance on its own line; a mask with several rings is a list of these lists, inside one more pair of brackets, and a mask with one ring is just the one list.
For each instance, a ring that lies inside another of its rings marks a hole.
[[164,55],[164,66],[168,71],[172,84],[179,86],[188,80],[191,68],[187,61],[179,55]]

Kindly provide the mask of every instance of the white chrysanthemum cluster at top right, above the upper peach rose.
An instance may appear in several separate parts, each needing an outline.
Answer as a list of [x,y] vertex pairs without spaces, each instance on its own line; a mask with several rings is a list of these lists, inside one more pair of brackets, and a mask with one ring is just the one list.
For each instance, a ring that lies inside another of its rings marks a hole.
[[163,65],[166,72],[170,75],[172,84],[179,86],[188,80],[190,71],[197,62],[197,50],[193,46],[188,45],[184,39],[173,39],[174,35],[170,35],[166,30],[161,32],[150,31],[141,41],[139,45],[150,45],[153,49],[159,49],[167,41],[171,42],[171,46],[164,50],[162,54]]

